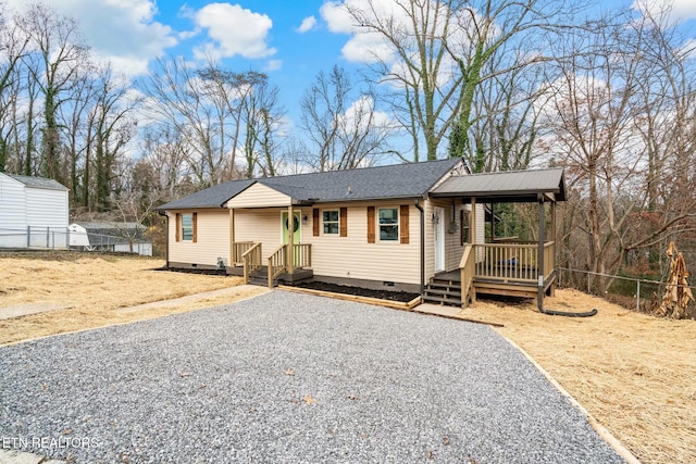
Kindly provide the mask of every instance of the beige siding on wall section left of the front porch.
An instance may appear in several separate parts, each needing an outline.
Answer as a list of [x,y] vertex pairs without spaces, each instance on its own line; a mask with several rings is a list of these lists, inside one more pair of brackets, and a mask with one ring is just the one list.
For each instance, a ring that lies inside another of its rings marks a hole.
[[[176,241],[176,213],[197,213],[196,242]],[[171,262],[214,266],[222,258],[229,265],[228,210],[169,211],[167,216]]]

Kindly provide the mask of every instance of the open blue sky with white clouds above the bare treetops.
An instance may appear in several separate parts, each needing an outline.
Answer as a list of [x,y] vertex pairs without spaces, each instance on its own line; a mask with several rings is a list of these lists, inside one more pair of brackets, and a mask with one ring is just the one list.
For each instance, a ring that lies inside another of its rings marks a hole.
[[[22,9],[26,0],[0,0]],[[364,0],[349,0],[360,3]],[[389,2],[393,0],[374,0]],[[634,5],[607,0],[602,8]],[[661,4],[669,0],[649,0]],[[326,0],[49,0],[79,22],[86,42],[115,70],[137,78],[152,60],[213,53],[232,71],[263,71],[281,88],[283,104],[297,118],[299,99],[320,71],[358,67],[374,42],[351,34],[350,24]],[[675,0],[674,16],[696,18],[695,0]]]

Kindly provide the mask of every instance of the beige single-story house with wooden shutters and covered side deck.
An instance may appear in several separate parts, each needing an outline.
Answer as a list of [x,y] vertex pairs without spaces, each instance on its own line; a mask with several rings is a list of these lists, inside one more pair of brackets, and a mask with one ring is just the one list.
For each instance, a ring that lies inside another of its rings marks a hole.
[[[159,208],[166,265],[274,286],[314,279],[465,306],[557,278],[562,168],[470,174],[460,159],[231,180]],[[495,204],[538,204],[538,240],[495,237]]]

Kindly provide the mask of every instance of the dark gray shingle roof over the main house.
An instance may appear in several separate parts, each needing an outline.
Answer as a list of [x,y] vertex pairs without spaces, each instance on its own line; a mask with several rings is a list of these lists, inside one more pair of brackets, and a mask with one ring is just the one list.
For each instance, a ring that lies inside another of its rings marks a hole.
[[417,198],[425,195],[460,159],[395,164],[326,173],[232,180],[163,204],[159,210],[220,208],[254,183],[291,197],[296,202]]

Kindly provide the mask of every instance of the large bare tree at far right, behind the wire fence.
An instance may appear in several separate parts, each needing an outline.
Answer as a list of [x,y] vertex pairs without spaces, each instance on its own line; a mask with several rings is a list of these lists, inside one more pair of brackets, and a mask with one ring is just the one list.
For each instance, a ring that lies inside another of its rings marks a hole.
[[[602,17],[555,45],[549,151],[579,191],[568,240],[586,243],[573,267],[616,274],[626,253],[682,230],[696,206],[693,176],[682,176],[694,143],[694,73],[672,27],[647,12]],[[591,277],[599,290],[610,283]]]

